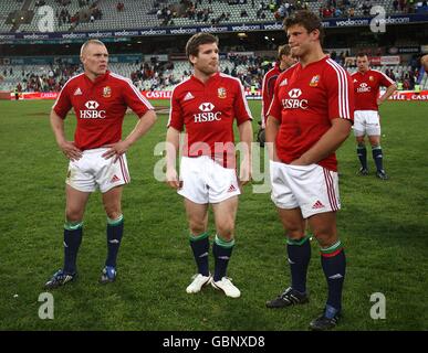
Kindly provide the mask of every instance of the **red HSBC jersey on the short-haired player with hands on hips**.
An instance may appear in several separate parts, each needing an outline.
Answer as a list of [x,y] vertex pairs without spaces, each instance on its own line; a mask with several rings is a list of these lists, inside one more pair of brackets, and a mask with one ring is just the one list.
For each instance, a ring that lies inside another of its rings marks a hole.
[[85,74],[70,78],[53,105],[63,119],[71,108],[77,118],[74,142],[81,150],[115,143],[122,138],[126,108],[142,117],[154,109],[132,82],[106,72],[92,82]]

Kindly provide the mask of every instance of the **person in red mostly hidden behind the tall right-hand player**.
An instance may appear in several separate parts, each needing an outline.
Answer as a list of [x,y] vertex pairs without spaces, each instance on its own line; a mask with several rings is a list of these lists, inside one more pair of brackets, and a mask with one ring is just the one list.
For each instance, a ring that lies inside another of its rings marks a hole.
[[273,89],[278,76],[290,66],[294,65],[296,60],[290,53],[290,45],[284,44],[278,47],[278,58],[274,66],[268,71],[262,81],[262,109],[261,109],[261,127],[258,132],[258,141],[263,147],[265,142],[264,129],[267,127],[268,110],[272,103]]

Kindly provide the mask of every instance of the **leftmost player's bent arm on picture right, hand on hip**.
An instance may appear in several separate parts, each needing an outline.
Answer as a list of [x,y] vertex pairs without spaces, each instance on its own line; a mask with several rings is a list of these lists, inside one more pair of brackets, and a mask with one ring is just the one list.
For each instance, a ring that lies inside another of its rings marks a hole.
[[103,154],[104,158],[111,158],[115,156],[116,161],[122,154],[124,154],[131,146],[138,141],[156,122],[155,110],[147,110],[139,119],[131,133],[123,141],[116,143],[106,145],[109,149]]

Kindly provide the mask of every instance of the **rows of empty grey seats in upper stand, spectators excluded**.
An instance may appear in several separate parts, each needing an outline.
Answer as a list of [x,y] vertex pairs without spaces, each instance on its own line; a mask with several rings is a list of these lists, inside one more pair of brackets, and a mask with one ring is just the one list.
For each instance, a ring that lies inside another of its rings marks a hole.
[[[386,10],[386,13],[400,13],[403,11],[394,11],[393,0],[367,0],[369,6],[382,6]],[[36,32],[39,15],[36,15],[36,2],[38,0],[27,0],[29,3],[28,11],[34,13],[31,23],[22,23],[18,28],[18,32]],[[219,24],[227,23],[260,23],[260,22],[272,22],[275,20],[275,10],[268,9],[268,0],[264,0],[265,10],[263,10],[264,18],[258,18],[257,13],[260,7],[261,0],[254,0],[254,7],[252,7],[251,0],[247,0],[246,4],[228,4],[228,0],[194,0],[197,2],[197,10],[209,9],[209,15],[206,21],[198,21],[195,19],[185,18],[186,6],[180,4],[178,0],[157,0],[159,7],[154,8],[155,1],[139,1],[139,0],[122,0],[124,3],[123,11],[117,10],[117,0],[103,0],[103,1],[88,1],[95,3],[96,8],[101,10],[101,19],[95,19],[91,22],[92,9],[90,4],[80,7],[77,0],[70,1],[67,6],[59,6],[56,0],[44,0],[46,6],[55,9],[55,28],[58,31],[96,31],[96,30],[123,30],[123,29],[138,29],[138,28],[155,28],[161,25],[195,25],[195,24],[212,24],[212,21],[219,19],[222,13],[229,13],[228,19],[221,19]],[[325,1],[297,1],[289,0],[290,3],[296,4],[295,8],[301,8],[303,4],[309,10],[320,13],[320,8],[327,3]],[[337,0],[337,3],[341,3]],[[354,8],[354,15],[363,15],[363,1],[349,0],[349,4],[346,8]],[[9,32],[12,30],[12,24],[7,24],[6,21],[8,15],[15,11],[21,10],[23,7],[22,2],[15,0],[1,1],[0,6],[0,31]],[[170,20],[159,19],[156,11],[158,9],[171,7],[171,11],[176,12],[176,17],[171,17]],[[69,11],[71,17],[81,13],[80,21],[72,23],[59,23],[59,12],[65,9]],[[241,11],[244,9],[248,17],[241,17]],[[345,17],[345,14],[343,14]],[[281,20],[281,19],[279,19]]]

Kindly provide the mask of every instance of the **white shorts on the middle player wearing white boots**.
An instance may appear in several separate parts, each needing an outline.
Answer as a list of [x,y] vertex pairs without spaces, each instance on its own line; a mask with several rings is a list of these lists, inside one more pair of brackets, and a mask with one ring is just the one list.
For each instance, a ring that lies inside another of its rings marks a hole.
[[241,193],[236,170],[208,156],[182,157],[179,180],[178,194],[198,204],[218,203]]

